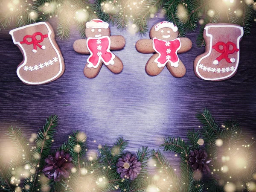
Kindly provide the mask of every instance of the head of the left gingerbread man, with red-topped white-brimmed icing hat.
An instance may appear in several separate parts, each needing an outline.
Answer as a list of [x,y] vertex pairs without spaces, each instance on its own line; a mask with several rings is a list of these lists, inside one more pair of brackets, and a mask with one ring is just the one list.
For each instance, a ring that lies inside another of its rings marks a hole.
[[93,19],[86,23],[85,35],[87,38],[110,36],[109,24],[100,19]]

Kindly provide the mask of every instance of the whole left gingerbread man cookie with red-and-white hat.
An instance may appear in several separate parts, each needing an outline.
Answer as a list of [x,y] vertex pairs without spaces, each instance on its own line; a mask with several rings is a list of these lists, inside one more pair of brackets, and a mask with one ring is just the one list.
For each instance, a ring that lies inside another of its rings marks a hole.
[[110,36],[108,23],[100,19],[86,23],[85,35],[87,39],[76,40],[73,44],[76,52],[90,54],[84,67],[84,76],[96,77],[103,63],[113,73],[120,73],[123,69],[122,61],[110,50],[124,48],[125,38],[121,35]]

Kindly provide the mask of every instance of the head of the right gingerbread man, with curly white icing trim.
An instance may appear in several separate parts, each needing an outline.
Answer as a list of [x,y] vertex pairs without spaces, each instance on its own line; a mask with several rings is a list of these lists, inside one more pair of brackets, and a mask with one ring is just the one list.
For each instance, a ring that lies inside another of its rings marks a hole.
[[178,37],[178,28],[173,23],[163,21],[155,24],[150,30],[150,38],[172,41]]

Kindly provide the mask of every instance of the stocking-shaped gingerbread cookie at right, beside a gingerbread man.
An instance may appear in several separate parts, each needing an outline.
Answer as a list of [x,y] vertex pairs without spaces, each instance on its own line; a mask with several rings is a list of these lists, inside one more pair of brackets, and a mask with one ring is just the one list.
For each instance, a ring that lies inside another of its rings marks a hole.
[[244,29],[235,24],[211,23],[204,28],[206,52],[195,58],[195,75],[208,81],[222,81],[236,74],[239,42]]

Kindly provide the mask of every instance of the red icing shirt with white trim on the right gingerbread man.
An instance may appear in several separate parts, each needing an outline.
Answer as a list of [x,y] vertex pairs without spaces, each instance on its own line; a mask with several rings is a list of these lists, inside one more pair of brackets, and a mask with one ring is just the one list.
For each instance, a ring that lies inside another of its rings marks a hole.
[[180,60],[177,51],[180,50],[180,47],[180,38],[172,41],[153,38],[153,48],[159,54],[154,60],[157,63],[157,67],[164,67],[167,62],[170,62],[172,67],[178,67]]

